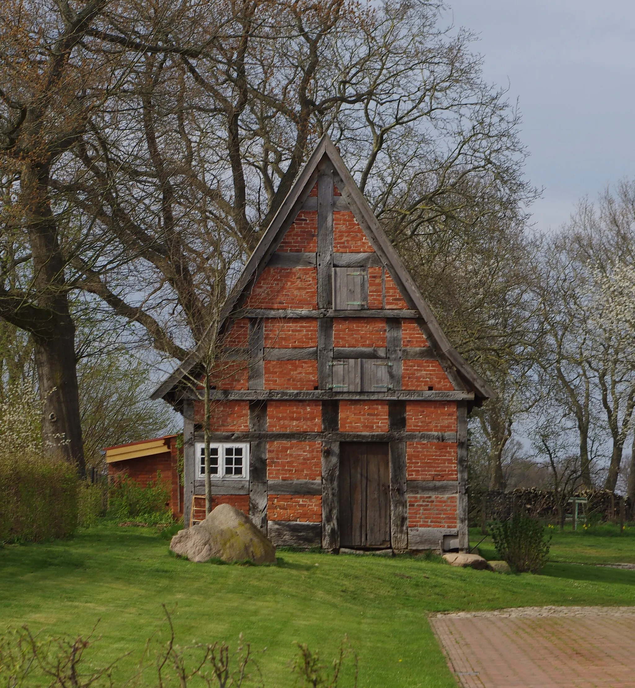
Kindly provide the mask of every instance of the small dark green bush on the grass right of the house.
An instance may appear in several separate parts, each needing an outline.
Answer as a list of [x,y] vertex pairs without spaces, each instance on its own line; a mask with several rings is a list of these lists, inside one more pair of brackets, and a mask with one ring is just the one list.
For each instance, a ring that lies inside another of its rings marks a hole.
[[498,556],[518,573],[537,573],[549,556],[549,542],[541,522],[519,512],[491,526]]

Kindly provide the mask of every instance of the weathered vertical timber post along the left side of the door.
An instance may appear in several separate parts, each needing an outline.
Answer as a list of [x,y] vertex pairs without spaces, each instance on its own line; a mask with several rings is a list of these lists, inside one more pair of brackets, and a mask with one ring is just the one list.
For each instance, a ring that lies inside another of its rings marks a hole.
[[[339,429],[339,402],[322,402],[322,431]],[[322,442],[322,549],[340,548],[340,443]]]

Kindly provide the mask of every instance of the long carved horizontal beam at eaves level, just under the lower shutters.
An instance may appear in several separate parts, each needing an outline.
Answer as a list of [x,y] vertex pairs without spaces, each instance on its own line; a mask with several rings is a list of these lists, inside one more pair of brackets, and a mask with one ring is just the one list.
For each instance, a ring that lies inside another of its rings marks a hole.
[[[202,397],[193,389],[184,389],[182,399]],[[321,401],[373,400],[373,401],[470,401],[471,391],[423,391],[418,389],[389,389],[388,391],[332,391],[330,389],[213,389],[212,401]]]

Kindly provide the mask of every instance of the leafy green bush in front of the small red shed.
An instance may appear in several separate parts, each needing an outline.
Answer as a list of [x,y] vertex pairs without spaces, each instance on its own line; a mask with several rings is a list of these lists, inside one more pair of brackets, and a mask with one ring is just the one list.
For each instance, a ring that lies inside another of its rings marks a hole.
[[117,476],[109,486],[108,516],[118,521],[134,519],[148,524],[170,523],[172,514],[166,503],[170,499],[169,487],[157,471],[155,481],[142,487],[127,475]]

